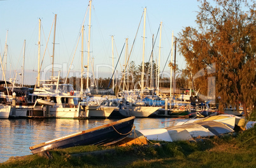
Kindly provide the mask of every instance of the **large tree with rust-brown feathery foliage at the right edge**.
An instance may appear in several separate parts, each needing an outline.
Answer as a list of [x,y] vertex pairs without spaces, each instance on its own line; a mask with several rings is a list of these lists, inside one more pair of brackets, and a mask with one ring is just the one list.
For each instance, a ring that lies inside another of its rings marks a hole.
[[[221,98],[219,110],[241,103],[247,117],[246,108],[255,108],[256,101],[256,3],[213,1],[216,6],[199,1],[197,27],[185,27],[180,32],[179,50],[192,74],[204,70],[207,77],[215,76],[216,94]],[[215,65],[215,73],[207,74],[211,65]],[[207,77],[196,84],[206,86]]]

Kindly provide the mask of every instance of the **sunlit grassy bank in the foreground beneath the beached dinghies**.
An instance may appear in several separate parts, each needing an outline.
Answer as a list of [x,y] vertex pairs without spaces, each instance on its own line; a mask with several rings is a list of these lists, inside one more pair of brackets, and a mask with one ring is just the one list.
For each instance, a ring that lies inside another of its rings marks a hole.
[[[76,146],[13,157],[0,167],[255,167],[256,126],[236,137],[146,146]],[[97,151],[97,152],[95,152]]]

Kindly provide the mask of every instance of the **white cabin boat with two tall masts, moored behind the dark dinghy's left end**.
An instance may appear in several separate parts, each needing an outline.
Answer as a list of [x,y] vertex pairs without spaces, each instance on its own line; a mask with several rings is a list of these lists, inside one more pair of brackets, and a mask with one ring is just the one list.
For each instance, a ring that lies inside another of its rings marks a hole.
[[[55,27],[56,28],[55,15]],[[88,112],[85,110],[86,102],[82,101],[81,96],[76,95],[71,84],[60,84],[60,72],[58,77],[53,77],[53,61],[54,61],[54,44],[55,44],[55,30],[53,39],[53,59],[52,59],[52,77],[50,80],[40,80],[40,30],[41,20],[39,19],[39,40],[38,40],[38,79],[34,91],[29,94],[31,103],[39,105],[43,108],[42,117],[53,118],[86,118]],[[40,82],[43,82],[40,85]],[[35,113],[35,107],[32,113]]]

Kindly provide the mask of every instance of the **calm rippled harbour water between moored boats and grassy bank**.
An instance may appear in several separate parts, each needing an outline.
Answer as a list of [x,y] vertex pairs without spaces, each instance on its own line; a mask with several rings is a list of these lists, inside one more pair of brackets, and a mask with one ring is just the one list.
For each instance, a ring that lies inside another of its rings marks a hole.
[[[0,119],[0,162],[30,155],[29,146],[102,126],[118,119]],[[171,122],[169,122],[171,120]],[[173,126],[174,119],[135,119],[136,130]]]

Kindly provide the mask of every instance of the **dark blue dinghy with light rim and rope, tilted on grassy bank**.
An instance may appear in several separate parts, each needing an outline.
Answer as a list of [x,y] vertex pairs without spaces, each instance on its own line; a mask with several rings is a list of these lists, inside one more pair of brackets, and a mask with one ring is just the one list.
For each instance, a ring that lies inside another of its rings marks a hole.
[[29,147],[33,154],[53,148],[68,148],[80,145],[111,145],[128,136],[133,128],[135,117],[118,120],[104,126],[87,129],[62,138],[53,139]]

